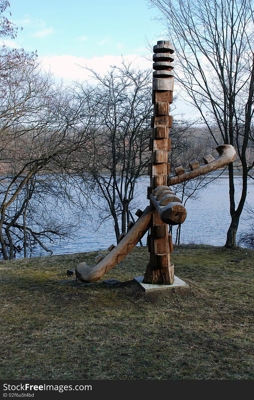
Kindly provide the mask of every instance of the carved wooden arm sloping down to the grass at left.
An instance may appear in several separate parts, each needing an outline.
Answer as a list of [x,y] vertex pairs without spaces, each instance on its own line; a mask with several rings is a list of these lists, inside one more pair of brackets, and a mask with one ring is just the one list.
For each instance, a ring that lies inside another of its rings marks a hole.
[[94,266],[88,266],[86,262],[80,262],[76,266],[76,277],[82,282],[96,282],[106,274],[106,272],[114,268],[147,232],[150,226],[151,216],[152,207],[148,206],[135,222],[134,226],[103,260]]

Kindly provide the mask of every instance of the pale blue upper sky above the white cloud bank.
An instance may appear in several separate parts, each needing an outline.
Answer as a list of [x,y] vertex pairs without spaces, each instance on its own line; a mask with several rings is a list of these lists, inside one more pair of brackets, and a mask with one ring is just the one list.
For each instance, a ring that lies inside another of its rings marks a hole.
[[142,54],[145,37],[163,31],[146,0],[10,0],[12,20],[23,26],[17,42],[38,55],[104,56]]

